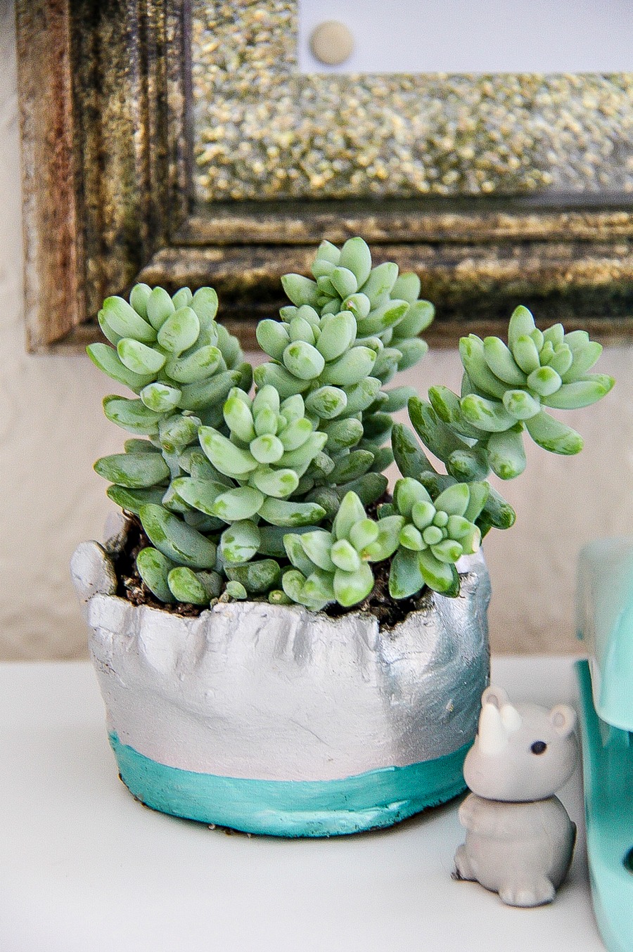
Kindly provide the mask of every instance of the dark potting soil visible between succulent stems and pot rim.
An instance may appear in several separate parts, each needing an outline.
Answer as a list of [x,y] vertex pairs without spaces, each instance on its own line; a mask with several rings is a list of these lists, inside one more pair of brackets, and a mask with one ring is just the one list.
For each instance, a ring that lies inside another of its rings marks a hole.
[[[381,503],[387,502],[382,499]],[[378,504],[375,504],[377,506]],[[375,515],[375,506],[367,506],[370,515]],[[166,604],[159,602],[156,596],[148,589],[136,567],[136,556],[142,548],[151,545],[148,536],[137,516],[126,512],[129,521],[128,535],[125,545],[118,551],[111,553],[111,558],[118,578],[117,595],[125,598],[132,605],[149,605],[152,608],[161,608],[173,615],[182,615],[185,618],[196,618],[206,610],[203,605],[189,605],[188,603]],[[427,589],[412,598],[401,599],[395,602],[389,595],[389,568],[391,560],[377,562],[372,565],[375,585],[371,594],[358,605],[344,608],[336,603],[327,605],[324,613],[329,618],[341,618],[350,612],[364,612],[374,615],[378,625],[386,631],[403,622],[412,611],[419,611],[428,607],[429,592]]]

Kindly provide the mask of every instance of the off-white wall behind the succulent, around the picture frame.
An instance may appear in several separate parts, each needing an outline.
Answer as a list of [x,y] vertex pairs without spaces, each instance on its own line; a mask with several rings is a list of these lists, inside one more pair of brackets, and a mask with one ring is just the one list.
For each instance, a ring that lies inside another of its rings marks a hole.
[[[76,658],[85,629],[69,584],[73,547],[99,538],[109,501],[92,471],[123,433],[102,415],[112,385],[87,357],[25,353],[21,198],[13,10],[0,0],[0,660]],[[566,415],[585,436],[572,459],[530,446],[524,476],[504,486],[517,526],[485,543],[494,594],[492,643],[505,651],[577,649],[575,562],[584,541],[633,530],[631,350],[600,368],[618,387],[602,404]],[[430,354],[408,375],[425,392],[456,388],[459,361]]]

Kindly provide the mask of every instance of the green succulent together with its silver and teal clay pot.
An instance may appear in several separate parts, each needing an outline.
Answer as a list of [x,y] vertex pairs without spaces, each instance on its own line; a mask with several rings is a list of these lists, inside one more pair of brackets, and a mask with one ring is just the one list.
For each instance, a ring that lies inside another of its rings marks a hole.
[[[613,384],[588,374],[601,347],[583,331],[519,307],[508,347],[461,341],[461,395],[385,388],[425,353],[420,280],[372,267],[361,238],[323,242],[312,275],[283,278],[254,374],[211,288],[104,302],[112,347],[89,355],[137,396],[104,401],[131,437],[95,468],[125,516],[71,566],[130,791],[286,836],[385,826],[464,789],[488,674],[479,547],[515,518],[486,476],[523,471],[525,430],[578,452],[548,408]],[[445,473],[393,426],[406,405]]]

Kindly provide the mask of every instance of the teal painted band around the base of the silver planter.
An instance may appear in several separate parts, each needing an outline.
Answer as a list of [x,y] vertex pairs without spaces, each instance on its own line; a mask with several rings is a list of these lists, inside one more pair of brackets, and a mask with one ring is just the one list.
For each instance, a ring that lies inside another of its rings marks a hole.
[[422,764],[385,767],[342,780],[270,781],[194,773],[109,743],[122,781],[162,813],[269,836],[339,836],[399,823],[465,790],[470,744]]

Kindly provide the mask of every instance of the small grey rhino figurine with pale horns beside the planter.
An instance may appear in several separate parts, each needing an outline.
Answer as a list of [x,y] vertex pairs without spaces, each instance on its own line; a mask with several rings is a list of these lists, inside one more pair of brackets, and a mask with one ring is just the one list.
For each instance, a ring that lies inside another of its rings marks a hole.
[[508,703],[487,687],[475,743],[464,764],[472,793],[462,803],[465,843],[455,854],[456,878],[498,892],[507,905],[551,902],[567,874],[576,824],[554,796],[578,761],[576,713]]

